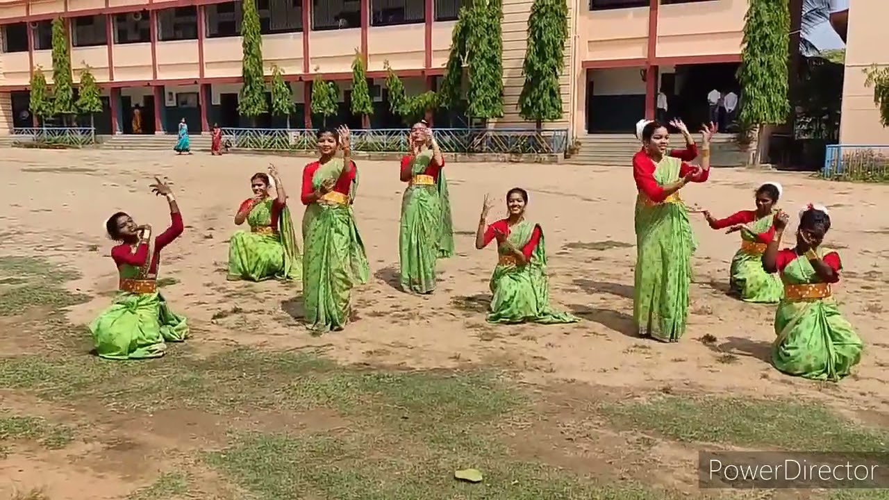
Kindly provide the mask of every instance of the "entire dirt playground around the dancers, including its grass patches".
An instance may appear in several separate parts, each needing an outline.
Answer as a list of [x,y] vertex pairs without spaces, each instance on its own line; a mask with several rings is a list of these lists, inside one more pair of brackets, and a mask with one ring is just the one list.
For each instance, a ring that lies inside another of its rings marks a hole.
[[[299,221],[304,158],[3,150],[0,500],[889,498],[711,490],[697,472],[700,450],[889,448],[889,186],[714,169],[682,192],[725,217],[779,181],[791,231],[806,203],[829,207],[837,299],[866,348],[855,375],[813,383],[770,366],[774,306],[726,295],[739,237],[701,215],[688,332],[636,337],[629,158],[446,165],[457,254],[431,296],[397,289],[398,165],[359,162],[372,280],[345,331],[308,335],[299,284],[226,280],[233,216],[269,161]],[[155,174],[174,182],[186,224],[159,284],[191,338],[163,359],[96,359],[84,325],[117,283],[104,222],[123,210],[164,230]],[[485,323],[496,251],[476,250],[475,231],[485,193],[493,222],[512,187],[530,193],[551,298],[578,324]],[[469,468],[484,479],[454,479]]]

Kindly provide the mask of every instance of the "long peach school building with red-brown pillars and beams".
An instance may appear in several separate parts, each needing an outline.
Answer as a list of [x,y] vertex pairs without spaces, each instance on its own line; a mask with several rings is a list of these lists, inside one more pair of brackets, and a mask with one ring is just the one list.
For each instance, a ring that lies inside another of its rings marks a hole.
[[[435,90],[445,72],[457,13],[466,4],[256,2],[267,71],[272,65],[283,69],[294,91],[292,127],[312,125],[305,109],[316,74],[340,86],[340,121],[360,125],[348,113],[356,51],[372,78],[372,126],[399,126],[385,102],[384,63],[396,69],[408,93]],[[502,2],[506,116],[491,125],[528,128],[533,124],[518,116],[516,104],[533,1]],[[666,98],[668,117],[701,123],[709,119],[711,91],[740,94],[734,73],[741,60],[748,0],[568,2],[570,39],[561,78],[565,114],[547,127],[567,128],[575,136],[629,132],[641,117],[654,117],[659,93],[661,101]],[[871,11],[886,8],[876,4]],[[858,15],[853,11],[850,20],[850,52],[864,36],[856,32]],[[98,133],[131,133],[136,106],[142,109],[143,133],[175,131],[182,117],[195,132],[213,123],[284,126],[275,117],[254,122],[237,115],[240,0],[0,0],[0,133],[31,125],[28,81],[34,68],[42,67],[52,84],[51,22],[57,17],[68,23],[75,82],[89,66],[102,86],[106,109],[96,117]],[[435,120],[437,126],[465,126],[453,113],[436,114]]]

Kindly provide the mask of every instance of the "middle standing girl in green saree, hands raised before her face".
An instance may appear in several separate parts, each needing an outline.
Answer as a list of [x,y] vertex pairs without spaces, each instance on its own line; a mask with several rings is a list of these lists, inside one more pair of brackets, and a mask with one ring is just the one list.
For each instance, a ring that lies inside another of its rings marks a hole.
[[431,294],[436,260],[453,255],[453,222],[445,158],[426,122],[411,129],[411,154],[401,159],[401,180],[408,182],[401,202],[398,253],[405,292]]

